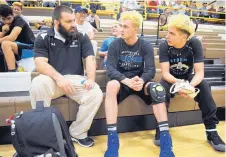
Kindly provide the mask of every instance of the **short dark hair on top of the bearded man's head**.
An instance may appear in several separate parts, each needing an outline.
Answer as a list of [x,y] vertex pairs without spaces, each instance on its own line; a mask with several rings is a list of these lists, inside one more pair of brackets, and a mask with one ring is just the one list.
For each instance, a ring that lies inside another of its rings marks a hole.
[[52,20],[59,20],[61,18],[61,13],[67,12],[73,14],[73,10],[65,5],[60,5],[53,10]]

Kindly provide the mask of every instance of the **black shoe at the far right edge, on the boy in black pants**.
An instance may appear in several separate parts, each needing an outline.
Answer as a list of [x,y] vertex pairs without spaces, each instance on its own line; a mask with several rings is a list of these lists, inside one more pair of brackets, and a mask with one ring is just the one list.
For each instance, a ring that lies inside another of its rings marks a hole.
[[217,131],[206,132],[206,134],[208,142],[215,150],[225,152],[225,143],[220,138]]

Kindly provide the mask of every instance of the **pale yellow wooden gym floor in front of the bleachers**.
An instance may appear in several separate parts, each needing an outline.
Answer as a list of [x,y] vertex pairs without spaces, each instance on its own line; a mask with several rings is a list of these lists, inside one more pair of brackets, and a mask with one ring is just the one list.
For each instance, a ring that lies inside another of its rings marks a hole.
[[[225,141],[225,121],[217,127],[218,133]],[[170,130],[174,153],[177,157],[224,157],[225,153],[216,152],[206,141],[204,125],[175,127]],[[159,148],[154,145],[155,131],[140,131],[120,134],[120,157],[158,157]],[[103,157],[107,145],[107,136],[96,136],[92,148],[83,148],[75,144],[79,157]],[[12,145],[1,145],[0,156],[12,157]]]

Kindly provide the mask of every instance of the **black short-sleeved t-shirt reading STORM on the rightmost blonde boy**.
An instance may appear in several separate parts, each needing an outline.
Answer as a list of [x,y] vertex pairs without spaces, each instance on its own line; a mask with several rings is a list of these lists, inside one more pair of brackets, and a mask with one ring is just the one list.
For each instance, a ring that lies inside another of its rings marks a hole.
[[183,48],[177,49],[163,41],[159,46],[159,60],[170,63],[170,74],[178,79],[187,79],[194,63],[204,62],[202,44],[196,37],[191,38]]

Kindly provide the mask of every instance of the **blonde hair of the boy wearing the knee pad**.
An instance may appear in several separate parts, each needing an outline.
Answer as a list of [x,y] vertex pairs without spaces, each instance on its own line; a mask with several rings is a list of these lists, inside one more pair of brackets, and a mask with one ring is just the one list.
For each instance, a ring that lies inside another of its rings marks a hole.
[[132,23],[139,28],[142,24],[143,17],[137,11],[126,11],[122,13],[120,20],[131,20]]

